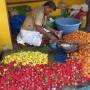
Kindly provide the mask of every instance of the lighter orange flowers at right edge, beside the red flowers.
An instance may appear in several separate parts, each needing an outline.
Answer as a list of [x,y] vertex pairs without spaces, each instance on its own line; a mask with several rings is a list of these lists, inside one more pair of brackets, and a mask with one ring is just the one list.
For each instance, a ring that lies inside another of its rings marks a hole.
[[79,52],[72,53],[76,58],[82,58],[83,73],[90,79],[90,44],[81,46]]

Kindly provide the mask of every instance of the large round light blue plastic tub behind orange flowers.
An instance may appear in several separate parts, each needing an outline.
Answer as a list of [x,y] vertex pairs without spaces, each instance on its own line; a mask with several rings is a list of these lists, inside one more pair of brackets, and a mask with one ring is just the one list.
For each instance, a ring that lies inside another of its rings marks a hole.
[[75,18],[57,18],[55,24],[58,30],[63,31],[63,34],[70,34],[80,27],[80,20]]

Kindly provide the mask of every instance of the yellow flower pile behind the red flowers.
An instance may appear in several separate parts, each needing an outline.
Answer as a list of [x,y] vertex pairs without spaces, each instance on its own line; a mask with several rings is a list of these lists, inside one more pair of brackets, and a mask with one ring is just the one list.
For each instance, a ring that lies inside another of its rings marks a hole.
[[47,64],[48,63],[48,53],[43,53],[40,51],[19,51],[16,53],[11,53],[3,59],[4,64],[9,64],[10,62],[16,61],[16,65],[36,65],[36,64]]

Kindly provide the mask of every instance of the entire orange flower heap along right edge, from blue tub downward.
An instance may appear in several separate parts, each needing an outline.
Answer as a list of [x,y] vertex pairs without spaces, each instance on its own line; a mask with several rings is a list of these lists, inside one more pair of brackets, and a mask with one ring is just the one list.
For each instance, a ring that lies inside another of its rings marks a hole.
[[64,40],[81,45],[79,52],[72,53],[72,56],[83,58],[80,60],[83,65],[83,73],[90,79],[90,33],[76,31],[66,35]]

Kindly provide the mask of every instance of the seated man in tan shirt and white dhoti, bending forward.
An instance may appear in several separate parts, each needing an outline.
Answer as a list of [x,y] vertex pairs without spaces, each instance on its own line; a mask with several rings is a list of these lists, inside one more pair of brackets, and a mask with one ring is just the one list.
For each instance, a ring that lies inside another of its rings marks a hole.
[[50,42],[58,41],[61,38],[59,31],[47,26],[47,17],[54,10],[56,10],[56,5],[53,1],[48,1],[33,10],[22,25],[17,36],[17,43],[40,46],[43,44],[43,38],[48,39]]

